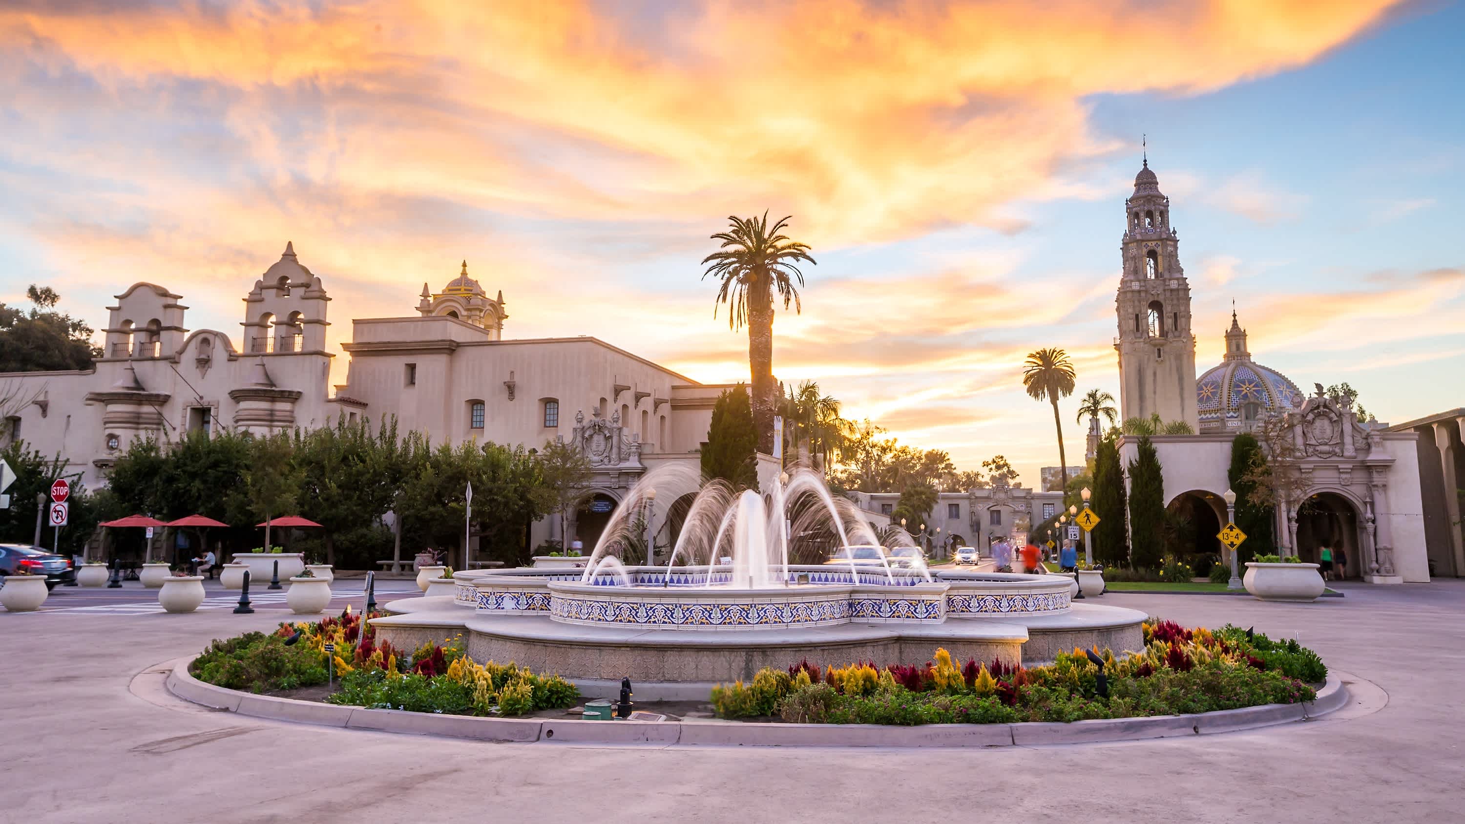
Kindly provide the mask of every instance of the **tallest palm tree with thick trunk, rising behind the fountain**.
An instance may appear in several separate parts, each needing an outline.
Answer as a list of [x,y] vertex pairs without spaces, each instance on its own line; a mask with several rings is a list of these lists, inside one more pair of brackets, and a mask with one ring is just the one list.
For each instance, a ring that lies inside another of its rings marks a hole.
[[[790,216],[791,217],[791,216]],[[747,325],[747,361],[753,374],[752,403],[753,424],[757,427],[757,449],[765,455],[774,452],[774,415],[778,411],[778,383],[774,380],[774,290],[784,299],[784,308],[791,302],[794,311],[803,311],[798,301],[798,286],[804,276],[795,265],[798,261],[816,262],[809,257],[809,246],[790,240],[781,232],[788,217],[774,226],[763,217],[728,217],[731,229],[718,232],[713,240],[721,240],[721,251],[702,258],[708,265],[703,280],[715,276],[722,280],[716,304],[728,305],[728,325],[734,330]],[[712,317],[716,317],[713,306]]]

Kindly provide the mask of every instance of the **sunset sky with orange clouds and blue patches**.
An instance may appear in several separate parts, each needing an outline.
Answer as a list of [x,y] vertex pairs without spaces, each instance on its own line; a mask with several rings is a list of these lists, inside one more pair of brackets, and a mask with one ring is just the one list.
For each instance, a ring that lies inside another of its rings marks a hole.
[[[1197,371],[1254,359],[1380,421],[1465,405],[1465,7],[1444,1],[0,3],[0,301],[105,325],[146,280],[239,340],[287,240],[353,317],[466,260],[505,337],[747,378],[702,280],[728,216],[813,246],[778,378],[960,468],[1058,463],[1021,365],[1118,396],[1141,136]],[[337,358],[335,378],[346,358]]]

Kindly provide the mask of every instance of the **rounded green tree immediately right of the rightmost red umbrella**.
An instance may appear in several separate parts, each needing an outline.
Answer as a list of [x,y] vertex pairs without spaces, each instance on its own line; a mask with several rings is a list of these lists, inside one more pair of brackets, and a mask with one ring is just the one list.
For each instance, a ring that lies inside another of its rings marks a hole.
[[[365,419],[294,433],[294,462],[300,469],[300,515],[319,523],[325,563],[335,564],[335,537],[378,523],[401,484],[401,441],[397,421],[374,433]],[[369,566],[374,559],[352,559]]]

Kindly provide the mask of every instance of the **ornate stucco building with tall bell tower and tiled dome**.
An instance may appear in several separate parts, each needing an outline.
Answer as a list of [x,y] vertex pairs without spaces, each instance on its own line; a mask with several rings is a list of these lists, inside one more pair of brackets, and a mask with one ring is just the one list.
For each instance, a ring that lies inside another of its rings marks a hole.
[[[1146,163],[1125,201],[1115,349],[1124,416],[1157,413],[1197,433],[1150,438],[1166,506],[1182,512],[1203,542],[1213,541],[1210,535],[1226,523],[1222,496],[1231,487],[1232,440],[1276,421],[1285,449],[1273,460],[1291,478],[1291,491],[1276,501],[1277,551],[1316,562],[1326,544],[1348,557],[1349,578],[1428,581],[1417,434],[1358,421],[1351,403],[1327,397],[1321,384],[1304,397],[1285,375],[1254,364],[1235,311],[1223,333],[1222,362],[1197,380],[1191,295],[1169,211],[1171,201]],[[1135,459],[1137,441],[1119,440],[1124,466]]]

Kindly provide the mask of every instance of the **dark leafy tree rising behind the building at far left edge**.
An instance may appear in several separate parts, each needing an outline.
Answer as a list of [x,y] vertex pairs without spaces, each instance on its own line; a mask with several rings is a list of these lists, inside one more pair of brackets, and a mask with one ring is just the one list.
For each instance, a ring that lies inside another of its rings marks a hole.
[[29,312],[0,304],[0,372],[89,369],[101,356],[92,328],[59,312],[62,298],[50,286],[32,283],[25,293],[35,305]]

